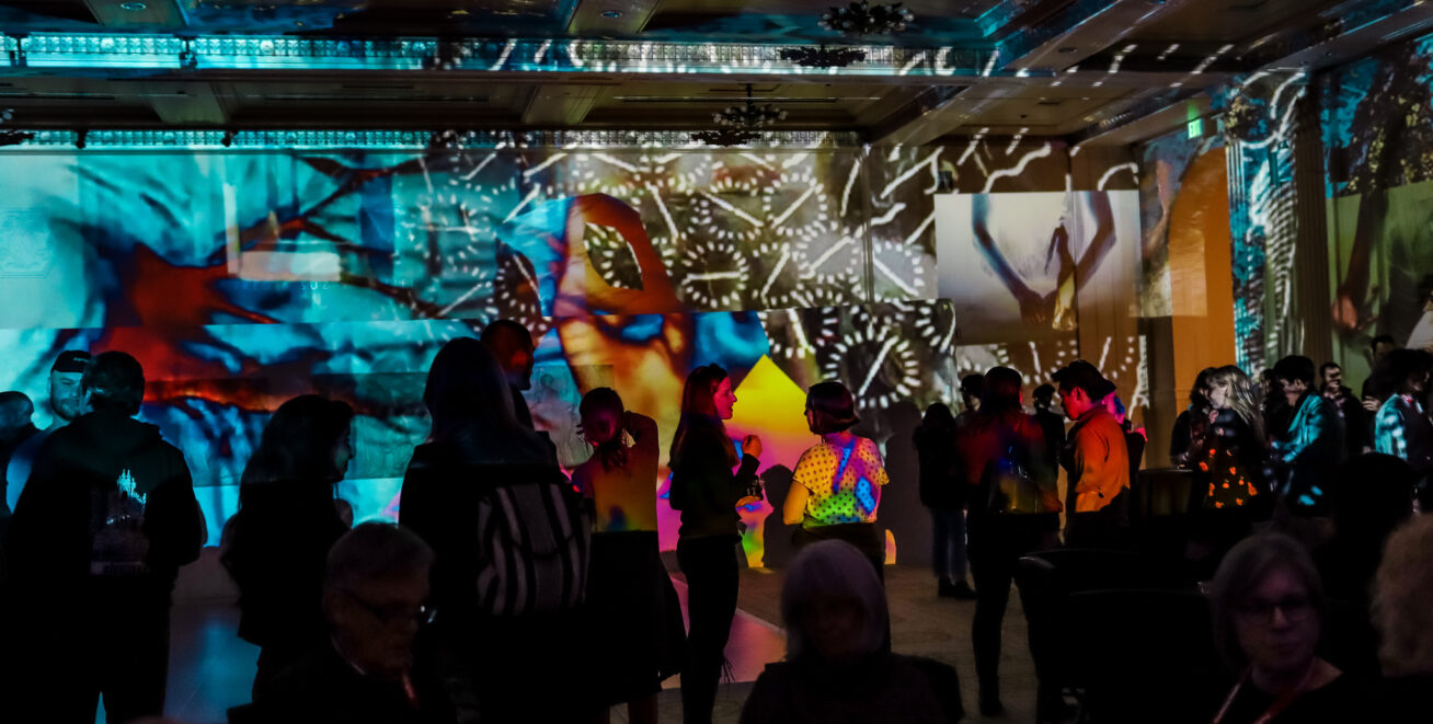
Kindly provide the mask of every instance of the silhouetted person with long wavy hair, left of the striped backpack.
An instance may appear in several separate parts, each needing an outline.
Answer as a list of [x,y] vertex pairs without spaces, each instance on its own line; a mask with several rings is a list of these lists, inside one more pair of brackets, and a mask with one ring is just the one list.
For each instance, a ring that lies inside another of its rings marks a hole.
[[348,530],[335,499],[353,459],[348,403],[304,394],[264,426],[239,480],[221,561],[239,586],[239,638],[259,647],[254,697],[328,638],[324,561]]

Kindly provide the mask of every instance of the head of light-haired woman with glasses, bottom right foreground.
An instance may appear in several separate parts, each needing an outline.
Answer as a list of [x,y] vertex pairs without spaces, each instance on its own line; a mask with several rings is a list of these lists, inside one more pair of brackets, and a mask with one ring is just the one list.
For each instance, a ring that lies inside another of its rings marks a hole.
[[1297,677],[1314,659],[1324,589],[1308,552],[1281,533],[1245,538],[1209,584],[1214,641],[1231,668]]

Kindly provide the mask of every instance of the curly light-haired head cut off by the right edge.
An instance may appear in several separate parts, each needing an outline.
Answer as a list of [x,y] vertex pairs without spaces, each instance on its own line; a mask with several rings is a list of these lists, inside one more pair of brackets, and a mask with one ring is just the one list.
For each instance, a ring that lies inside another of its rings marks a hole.
[[1384,677],[1433,675],[1433,515],[1389,536],[1373,579],[1373,625]]

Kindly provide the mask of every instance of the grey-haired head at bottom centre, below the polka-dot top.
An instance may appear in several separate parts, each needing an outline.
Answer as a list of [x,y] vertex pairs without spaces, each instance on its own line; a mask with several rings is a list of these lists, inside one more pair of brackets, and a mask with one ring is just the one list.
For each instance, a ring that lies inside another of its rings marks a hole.
[[781,586],[787,658],[843,662],[873,654],[886,639],[886,589],[851,543],[807,546]]

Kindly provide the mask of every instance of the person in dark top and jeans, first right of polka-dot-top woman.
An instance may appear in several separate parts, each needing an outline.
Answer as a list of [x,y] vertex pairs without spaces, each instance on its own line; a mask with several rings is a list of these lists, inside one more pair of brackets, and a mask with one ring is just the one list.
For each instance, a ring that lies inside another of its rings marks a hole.
[[956,454],[956,419],[944,403],[926,407],[916,429],[920,459],[920,503],[930,510],[931,568],[936,594],[941,598],[973,599],[966,582],[966,482]]

